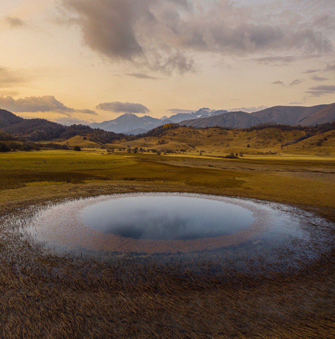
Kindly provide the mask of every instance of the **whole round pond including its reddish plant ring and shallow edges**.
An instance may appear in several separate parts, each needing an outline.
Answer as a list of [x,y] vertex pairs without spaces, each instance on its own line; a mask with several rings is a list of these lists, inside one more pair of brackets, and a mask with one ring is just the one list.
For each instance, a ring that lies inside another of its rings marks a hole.
[[48,205],[26,229],[61,253],[163,261],[235,258],[244,266],[248,257],[252,265],[258,258],[259,265],[277,260],[287,267],[327,250],[322,230],[333,226],[306,211],[259,200],[133,193]]

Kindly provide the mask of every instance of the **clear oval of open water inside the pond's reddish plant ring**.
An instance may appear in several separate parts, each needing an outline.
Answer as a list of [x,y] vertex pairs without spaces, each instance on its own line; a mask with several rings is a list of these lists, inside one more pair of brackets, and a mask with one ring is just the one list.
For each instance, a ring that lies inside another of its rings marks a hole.
[[84,224],[124,238],[188,240],[233,234],[247,228],[253,213],[228,202],[183,196],[137,196],[92,204]]

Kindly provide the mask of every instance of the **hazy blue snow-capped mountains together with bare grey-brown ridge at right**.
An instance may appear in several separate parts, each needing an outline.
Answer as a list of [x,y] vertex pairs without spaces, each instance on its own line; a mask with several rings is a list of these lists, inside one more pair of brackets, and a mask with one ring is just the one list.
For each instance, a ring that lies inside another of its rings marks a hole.
[[113,120],[92,123],[91,127],[115,133],[136,135],[167,123],[179,123],[196,128],[213,126],[248,128],[263,123],[310,126],[334,120],[335,103],[311,107],[274,106],[253,113],[215,111],[204,107],[193,113],[178,113],[169,118],[164,116],[160,119],[147,115],[138,117],[135,114],[126,113]]

